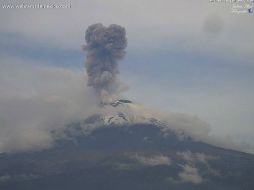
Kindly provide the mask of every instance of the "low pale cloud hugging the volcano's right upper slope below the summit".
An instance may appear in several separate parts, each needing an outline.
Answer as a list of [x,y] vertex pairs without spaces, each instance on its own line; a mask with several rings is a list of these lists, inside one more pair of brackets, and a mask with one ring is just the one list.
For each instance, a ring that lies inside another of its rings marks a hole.
[[[122,111],[126,112],[126,110]],[[253,153],[254,150],[253,144],[239,143],[235,139],[224,135],[213,135],[211,133],[211,126],[195,115],[161,111],[159,109],[143,106],[141,104],[131,104],[130,112],[126,113],[131,114],[130,118],[137,123],[143,123],[144,121],[150,122],[151,118],[158,119],[160,124],[163,126],[162,130],[164,135],[167,135],[168,132],[173,130],[180,139],[192,137],[193,140],[206,142],[208,144],[226,149],[233,149],[249,153]],[[202,159],[202,156],[203,155],[195,155],[196,159]]]

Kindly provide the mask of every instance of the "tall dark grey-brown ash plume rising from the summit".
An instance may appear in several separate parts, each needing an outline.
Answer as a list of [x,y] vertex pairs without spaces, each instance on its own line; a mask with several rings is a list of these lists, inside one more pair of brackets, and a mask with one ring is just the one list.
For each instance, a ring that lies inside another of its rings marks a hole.
[[112,101],[119,92],[117,62],[125,55],[125,29],[115,24],[93,24],[87,28],[85,39],[87,85],[95,89],[102,103]]

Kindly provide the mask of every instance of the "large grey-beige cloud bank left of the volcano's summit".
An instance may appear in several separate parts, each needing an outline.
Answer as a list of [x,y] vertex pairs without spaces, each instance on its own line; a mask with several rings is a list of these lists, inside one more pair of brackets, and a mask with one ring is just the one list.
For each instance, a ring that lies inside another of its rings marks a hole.
[[0,67],[0,152],[47,148],[51,130],[96,109],[84,73],[15,58]]

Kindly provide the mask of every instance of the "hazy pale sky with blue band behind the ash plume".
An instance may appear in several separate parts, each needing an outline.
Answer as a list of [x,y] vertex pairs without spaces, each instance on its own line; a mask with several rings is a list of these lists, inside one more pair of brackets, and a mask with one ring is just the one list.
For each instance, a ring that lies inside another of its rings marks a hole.
[[3,9],[21,1],[1,2],[0,67],[7,69],[5,75],[0,72],[0,97],[8,91],[3,81],[22,80],[16,75],[19,70],[11,73],[9,62],[15,60],[24,70],[29,67],[24,73],[43,66],[80,74],[86,28],[97,22],[115,23],[126,28],[128,37],[119,76],[130,87],[126,98],[197,115],[211,125],[212,133],[254,144],[254,14],[234,14],[232,4],[209,0],[54,3],[68,8]]

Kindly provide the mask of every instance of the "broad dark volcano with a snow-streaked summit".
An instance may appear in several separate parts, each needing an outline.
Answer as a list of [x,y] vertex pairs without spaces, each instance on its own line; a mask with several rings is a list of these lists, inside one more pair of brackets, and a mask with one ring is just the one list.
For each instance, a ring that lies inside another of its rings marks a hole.
[[167,128],[120,99],[52,130],[53,147],[0,154],[1,190],[253,190],[254,155]]

